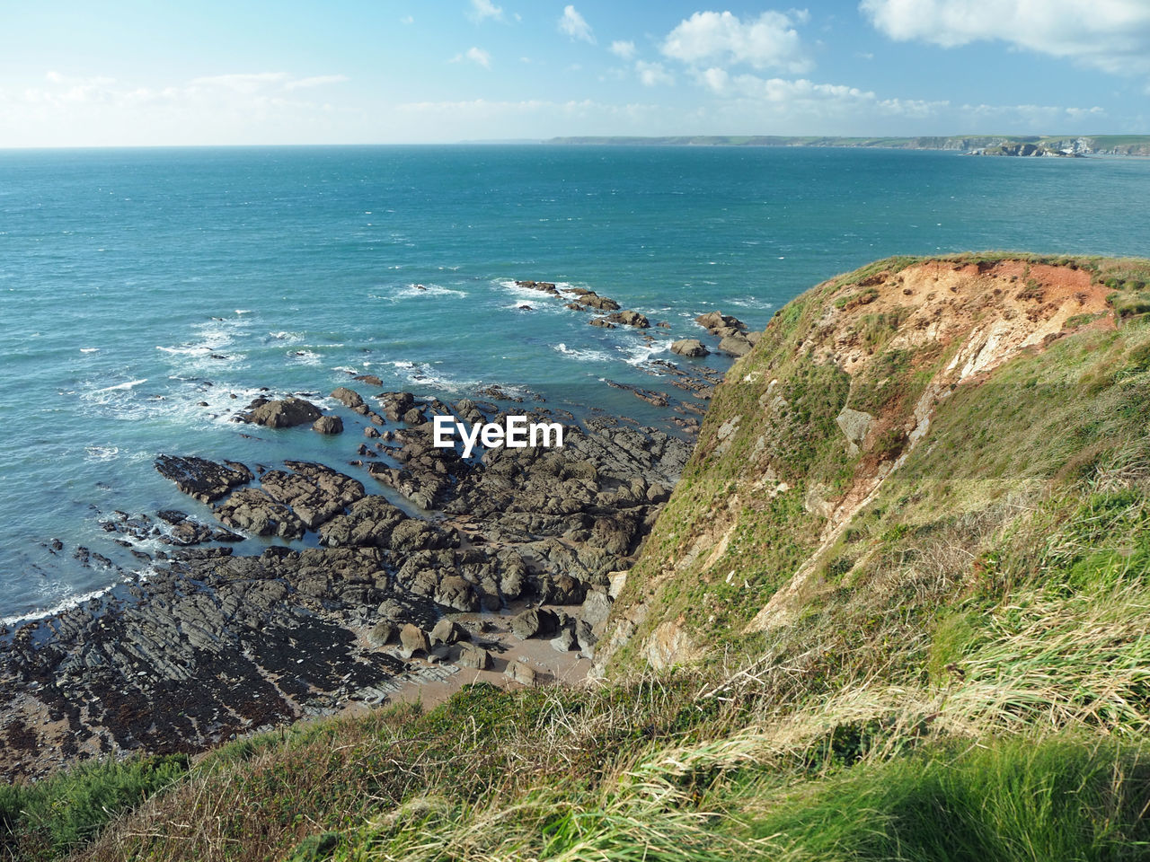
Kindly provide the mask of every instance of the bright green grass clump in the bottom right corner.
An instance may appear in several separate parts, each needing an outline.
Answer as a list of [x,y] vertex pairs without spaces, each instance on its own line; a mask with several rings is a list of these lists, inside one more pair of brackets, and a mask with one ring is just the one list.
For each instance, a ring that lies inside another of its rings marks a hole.
[[1145,859],[1150,757],[1055,739],[940,747],[752,796],[761,857],[1045,862]]

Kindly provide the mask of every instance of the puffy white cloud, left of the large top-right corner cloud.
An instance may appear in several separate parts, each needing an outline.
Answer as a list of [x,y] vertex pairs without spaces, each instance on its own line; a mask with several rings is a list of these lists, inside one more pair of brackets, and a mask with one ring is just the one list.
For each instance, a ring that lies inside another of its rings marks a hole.
[[806,11],[765,11],[745,23],[729,11],[697,11],[672,30],[662,53],[684,63],[746,63],[756,69],[802,74],[811,69],[796,23]]

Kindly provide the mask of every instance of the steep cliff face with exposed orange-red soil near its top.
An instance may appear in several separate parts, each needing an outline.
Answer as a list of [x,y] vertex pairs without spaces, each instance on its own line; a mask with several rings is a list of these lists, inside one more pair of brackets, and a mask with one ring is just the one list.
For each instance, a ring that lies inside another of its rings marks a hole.
[[890,259],[781,309],[715,393],[600,669],[813,649],[815,618],[881,641],[920,582],[899,640],[928,642],[1004,525],[1140,457],[1145,278],[1130,261]]

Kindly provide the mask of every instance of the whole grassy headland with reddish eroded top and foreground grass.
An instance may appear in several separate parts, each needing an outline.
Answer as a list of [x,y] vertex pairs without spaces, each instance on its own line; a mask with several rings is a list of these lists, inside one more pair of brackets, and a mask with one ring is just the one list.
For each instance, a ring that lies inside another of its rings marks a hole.
[[598,685],[239,740],[74,856],[1144,857],[1148,283],[982,254],[818,285],[716,391]]

